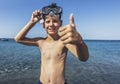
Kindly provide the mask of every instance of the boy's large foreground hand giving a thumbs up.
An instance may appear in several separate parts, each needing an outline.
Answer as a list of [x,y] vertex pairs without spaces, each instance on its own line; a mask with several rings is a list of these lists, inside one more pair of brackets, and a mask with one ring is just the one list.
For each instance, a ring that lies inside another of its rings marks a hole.
[[60,28],[59,30],[61,36],[60,39],[64,44],[78,43],[82,41],[82,37],[76,31],[73,14],[70,15],[70,24]]

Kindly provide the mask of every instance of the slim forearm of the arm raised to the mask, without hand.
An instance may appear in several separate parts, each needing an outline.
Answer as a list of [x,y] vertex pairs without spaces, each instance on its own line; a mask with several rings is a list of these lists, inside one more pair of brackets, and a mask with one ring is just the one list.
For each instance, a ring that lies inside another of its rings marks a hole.
[[29,21],[27,25],[16,35],[15,41],[18,42],[25,38],[29,30],[35,25],[32,21]]

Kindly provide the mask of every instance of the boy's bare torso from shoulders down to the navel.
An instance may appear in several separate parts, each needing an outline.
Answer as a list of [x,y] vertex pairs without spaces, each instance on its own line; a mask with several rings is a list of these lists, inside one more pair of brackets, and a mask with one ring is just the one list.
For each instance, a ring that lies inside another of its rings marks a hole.
[[38,42],[41,51],[40,80],[45,84],[64,84],[67,49],[60,40]]

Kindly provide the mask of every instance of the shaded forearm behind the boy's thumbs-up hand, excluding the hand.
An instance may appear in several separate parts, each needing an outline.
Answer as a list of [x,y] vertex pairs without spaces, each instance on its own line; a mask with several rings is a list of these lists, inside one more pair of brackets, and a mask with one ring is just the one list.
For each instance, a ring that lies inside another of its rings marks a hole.
[[84,41],[65,44],[67,49],[79,60],[87,61],[89,58],[88,48]]

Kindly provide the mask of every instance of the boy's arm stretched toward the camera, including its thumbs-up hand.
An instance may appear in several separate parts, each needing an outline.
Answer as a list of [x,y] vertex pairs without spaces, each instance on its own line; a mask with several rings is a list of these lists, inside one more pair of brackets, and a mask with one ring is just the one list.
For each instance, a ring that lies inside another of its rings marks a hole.
[[60,28],[61,41],[68,50],[79,60],[86,61],[89,58],[87,45],[76,31],[73,15],[70,16],[70,24]]

